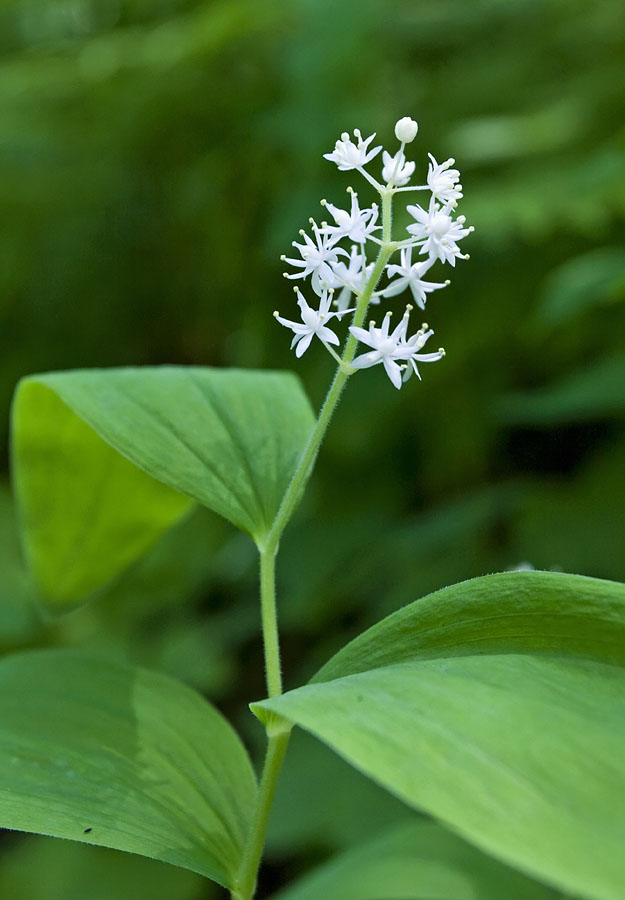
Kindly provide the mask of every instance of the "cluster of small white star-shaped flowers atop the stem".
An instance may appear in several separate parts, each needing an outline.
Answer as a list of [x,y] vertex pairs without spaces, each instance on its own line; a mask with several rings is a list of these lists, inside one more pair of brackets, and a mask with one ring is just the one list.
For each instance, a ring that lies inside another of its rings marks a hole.
[[[382,150],[381,146],[371,146],[375,134],[363,140],[357,129],[353,133],[354,139],[344,132],[334,150],[324,154],[325,159],[336,163],[341,171],[355,170],[372,184],[382,200],[382,210],[380,213],[376,203],[361,208],[358,194],[351,187],[347,188],[351,197],[348,209],[322,200],[321,204],[330,214],[332,222],[317,224],[310,219],[310,234],[302,230],[301,240],[293,242],[299,256],[281,257],[283,262],[295,269],[285,273],[285,278],[310,278],[312,290],[318,297],[317,308],[310,306],[299,288],[295,288],[301,321],[294,322],[283,318],[278,312],[274,313],[281,325],[293,331],[291,347],[295,348],[296,356],[300,357],[316,336],[346,371],[381,363],[397,388],[412,372],[421,377],[418,362],[439,360],[444,356],[444,351],[420,352],[433,334],[425,324],[414,334],[408,335],[412,305],[406,307],[400,323],[393,330],[390,310],[384,315],[381,327],[376,327],[373,321],[368,323],[368,328],[361,327],[367,307],[370,303],[379,304],[381,298],[396,297],[409,290],[414,303],[425,309],[427,295],[449,284],[449,281],[425,280],[427,272],[437,261],[455,266],[457,259],[468,259],[468,255],[460,251],[458,243],[473,231],[465,227],[464,216],[454,218],[458,200],[462,197],[462,185],[459,183],[460,173],[453,168],[453,159],[438,163],[432,154],[428,154],[430,162],[426,184],[410,184],[416,165],[406,160],[405,146],[414,140],[417,130],[413,119],[405,117],[397,122],[395,136],[400,147],[394,154],[383,151],[381,182],[365,169]],[[393,241],[393,198],[410,191],[429,192],[429,202],[426,206],[406,206],[414,222],[406,229],[408,237]],[[370,253],[372,246],[377,258]],[[418,258],[413,261],[414,250]],[[396,252],[399,252],[399,263],[391,263]],[[383,274],[388,283],[380,288]],[[355,313],[354,322],[349,328],[351,337],[341,358],[332,349],[332,345],[338,346],[340,340],[330,323],[334,325],[333,319],[339,322],[348,313]],[[370,350],[354,358],[356,342],[365,344]]]

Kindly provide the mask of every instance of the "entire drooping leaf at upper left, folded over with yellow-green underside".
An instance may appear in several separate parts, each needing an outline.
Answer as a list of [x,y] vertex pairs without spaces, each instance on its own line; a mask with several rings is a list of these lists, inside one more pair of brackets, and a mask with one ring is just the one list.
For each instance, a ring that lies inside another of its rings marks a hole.
[[284,372],[164,366],[24,379],[15,482],[47,602],[66,608],[109,581],[189,497],[261,541],[313,421]]

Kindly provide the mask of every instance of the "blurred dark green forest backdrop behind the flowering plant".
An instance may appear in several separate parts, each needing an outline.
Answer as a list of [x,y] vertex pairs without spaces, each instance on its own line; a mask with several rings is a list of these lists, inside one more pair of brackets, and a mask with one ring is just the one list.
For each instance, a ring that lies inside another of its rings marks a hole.
[[[390,142],[410,115],[418,167],[429,150],[461,169],[471,261],[428,305],[447,357],[423,383],[396,392],[376,369],[349,385],[283,542],[287,684],[464,578],[529,564],[625,580],[624,58],[618,0],[4,0],[3,446],[16,381],[49,369],[293,368],[318,405],[332,363],[296,362],[275,325],[292,313],[279,255],[357,184],[322,159],[338,134]],[[245,537],[199,512],[45,622],[8,488],[0,531],[5,652],[73,644],[173,673],[256,751]],[[263,894],[405,814],[299,738]],[[51,839],[0,849],[10,900],[78,900],[86,883],[91,900],[218,895]]]

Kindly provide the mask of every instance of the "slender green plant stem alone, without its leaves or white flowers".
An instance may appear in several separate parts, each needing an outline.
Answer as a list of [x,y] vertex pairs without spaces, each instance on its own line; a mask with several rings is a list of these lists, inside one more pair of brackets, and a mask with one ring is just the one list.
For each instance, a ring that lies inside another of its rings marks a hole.
[[[382,197],[382,244],[371,276],[362,293],[358,297],[352,325],[361,327],[371,295],[384,271],[386,263],[395,252],[396,245],[391,241],[393,190],[381,192]],[[295,512],[308,479],[313,470],[315,459],[323,442],[326,431],[343,393],[347,379],[355,370],[350,364],[356,355],[357,339],[350,334],[345,343],[341,362],[336,370],[330,389],[319,411],[317,422],[308,439],[308,443],[300,457],[297,469],[282,498],[282,503],[267,534],[266,539],[258,543],[260,554],[260,604],[265,651],[265,673],[267,693],[269,697],[277,697],[282,693],[282,673],[280,665],[280,642],[278,635],[278,617],[276,612],[275,561],[282,532]],[[284,726],[287,728],[287,726]],[[276,786],[282,769],[284,755],[289,743],[291,729],[280,730],[276,734],[268,731],[267,753],[256,799],[256,808],[252,827],[247,839],[241,867],[235,889],[231,892],[232,900],[252,900],[256,890],[258,868],[263,855],[267,823],[273,805]]]

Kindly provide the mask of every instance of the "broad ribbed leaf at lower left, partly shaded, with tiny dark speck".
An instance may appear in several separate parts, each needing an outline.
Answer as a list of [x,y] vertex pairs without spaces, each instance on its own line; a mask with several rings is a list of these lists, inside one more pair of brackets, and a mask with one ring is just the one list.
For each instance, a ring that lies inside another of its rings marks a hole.
[[255,777],[179,682],[67,651],[0,663],[0,825],[139,853],[230,887]]

